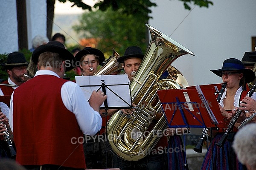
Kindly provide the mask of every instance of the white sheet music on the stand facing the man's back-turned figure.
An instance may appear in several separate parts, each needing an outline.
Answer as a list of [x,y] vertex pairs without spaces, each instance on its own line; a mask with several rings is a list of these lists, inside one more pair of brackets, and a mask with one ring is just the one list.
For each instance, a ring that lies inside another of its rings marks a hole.
[[[126,74],[76,76],[76,83],[81,87],[87,99],[93,91],[101,90],[102,80],[105,82],[108,108],[127,108],[131,106],[129,79]],[[99,89],[100,88],[100,89]],[[114,92],[114,93],[113,93]],[[121,98],[119,98],[119,97]],[[123,100],[127,103],[125,103]],[[105,108],[104,103],[100,108]]]

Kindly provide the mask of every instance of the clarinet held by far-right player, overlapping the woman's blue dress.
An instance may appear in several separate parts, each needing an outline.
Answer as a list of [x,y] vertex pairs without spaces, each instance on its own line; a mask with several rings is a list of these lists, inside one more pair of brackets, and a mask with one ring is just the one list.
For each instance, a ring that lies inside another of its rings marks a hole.
[[[255,89],[256,89],[256,83],[253,85],[253,87],[250,89],[250,91],[247,93],[246,96],[251,97],[253,95],[253,92],[255,91]],[[232,131],[233,127],[235,126],[235,123],[236,123],[237,119],[239,118],[239,116],[241,115],[242,112],[243,111],[239,109],[236,112],[235,116],[233,116],[233,118],[231,119],[231,121],[230,121],[230,123],[229,123],[229,125],[227,127],[227,130],[225,131],[225,133],[221,137],[221,140],[218,143],[216,143],[217,146],[223,148],[224,143],[227,140],[227,137],[229,136],[230,132]]]

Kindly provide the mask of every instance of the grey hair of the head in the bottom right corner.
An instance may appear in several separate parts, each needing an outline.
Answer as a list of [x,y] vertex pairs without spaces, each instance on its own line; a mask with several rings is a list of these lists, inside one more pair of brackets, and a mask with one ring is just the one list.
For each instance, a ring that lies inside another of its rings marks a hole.
[[256,123],[250,123],[239,129],[233,141],[238,160],[253,170],[256,169]]

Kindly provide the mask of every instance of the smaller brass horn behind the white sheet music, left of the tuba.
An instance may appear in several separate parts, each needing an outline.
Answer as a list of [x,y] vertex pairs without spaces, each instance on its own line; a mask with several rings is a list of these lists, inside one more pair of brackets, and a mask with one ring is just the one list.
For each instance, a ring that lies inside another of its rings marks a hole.
[[[113,48],[112,48],[113,49]],[[122,63],[117,62],[120,55],[113,49],[112,56],[108,61],[95,73],[95,75],[108,75],[122,69]]]

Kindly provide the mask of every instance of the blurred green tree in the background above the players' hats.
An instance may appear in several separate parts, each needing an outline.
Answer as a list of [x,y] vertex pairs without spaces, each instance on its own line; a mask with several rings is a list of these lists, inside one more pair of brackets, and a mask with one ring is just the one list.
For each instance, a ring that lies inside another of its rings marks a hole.
[[[140,46],[145,52],[147,48],[146,19],[137,15],[122,14],[122,10],[113,11],[111,8],[104,12],[90,11],[82,14],[79,24],[74,30],[83,34],[84,38],[99,40],[96,48],[112,54],[114,48],[122,55],[128,46]],[[108,53],[109,54],[109,53]]]

